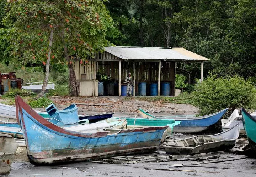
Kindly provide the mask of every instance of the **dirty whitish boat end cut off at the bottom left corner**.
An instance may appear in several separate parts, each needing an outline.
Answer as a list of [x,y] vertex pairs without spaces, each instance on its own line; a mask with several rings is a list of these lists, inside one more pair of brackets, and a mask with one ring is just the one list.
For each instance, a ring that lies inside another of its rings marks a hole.
[[11,135],[0,134],[0,176],[11,171],[12,158],[18,148],[18,143]]

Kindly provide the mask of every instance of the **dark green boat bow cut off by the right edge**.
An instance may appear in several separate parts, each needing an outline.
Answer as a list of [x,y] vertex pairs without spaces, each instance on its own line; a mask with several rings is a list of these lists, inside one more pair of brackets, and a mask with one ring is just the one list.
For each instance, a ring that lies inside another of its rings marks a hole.
[[256,115],[250,115],[244,108],[242,111],[242,121],[244,124],[244,129],[250,144],[251,149],[254,152],[254,157],[256,158]]

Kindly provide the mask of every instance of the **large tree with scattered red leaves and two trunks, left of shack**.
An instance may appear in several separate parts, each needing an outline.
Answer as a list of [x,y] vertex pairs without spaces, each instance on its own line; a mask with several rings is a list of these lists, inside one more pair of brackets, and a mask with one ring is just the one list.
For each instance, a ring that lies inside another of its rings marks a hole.
[[71,95],[76,96],[73,59],[83,59],[104,50],[106,34],[114,35],[112,18],[103,1],[8,0],[4,24],[12,29],[9,55],[13,62],[41,61],[46,65],[44,94],[49,64],[66,63]]

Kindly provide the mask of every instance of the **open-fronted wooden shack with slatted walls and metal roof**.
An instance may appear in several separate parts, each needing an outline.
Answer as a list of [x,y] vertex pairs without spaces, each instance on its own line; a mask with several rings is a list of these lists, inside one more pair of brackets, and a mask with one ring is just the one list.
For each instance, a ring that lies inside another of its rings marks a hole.
[[128,72],[132,73],[135,91],[138,94],[139,82],[147,84],[170,83],[170,96],[175,95],[175,66],[177,62],[201,62],[201,81],[203,80],[203,62],[208,59],[184,48],[158,47],[105,47],[105,52],[94,58],[88,57],[88,63],[74,62],[78,94],[80,96],[98,96],[98,80],[107,77],[117,85],[121,96],[121,85]]

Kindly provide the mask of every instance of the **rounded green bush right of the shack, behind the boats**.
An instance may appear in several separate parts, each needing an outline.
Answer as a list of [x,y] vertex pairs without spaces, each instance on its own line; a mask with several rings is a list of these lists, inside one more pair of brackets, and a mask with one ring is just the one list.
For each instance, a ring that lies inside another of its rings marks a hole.
[[199,84],[193,95],[201,108],[200,115],[206,115],[228,107],[231,111],[248,107],[254,100],[255,88],[238,76],[217,78],[214,75]]

